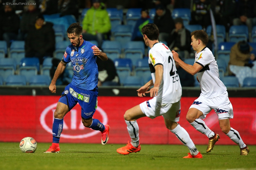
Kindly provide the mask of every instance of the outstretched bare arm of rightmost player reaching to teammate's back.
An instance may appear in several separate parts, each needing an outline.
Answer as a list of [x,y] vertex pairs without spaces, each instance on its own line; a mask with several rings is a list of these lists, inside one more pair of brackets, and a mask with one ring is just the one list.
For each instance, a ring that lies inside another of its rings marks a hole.
[[182,67],[186,72],[188,72],[191,75],[195,75],[203,68],[198,63],[194,63],[194,65],[192,66],[192,65],[189,65],[189,64],[185,63],[184,61],[180,60],[179,54],[177,52],[175,52],[174,50],[172,50],[172,54],[173,54],[173,59],[177,63],[179,63],[180,67]]

